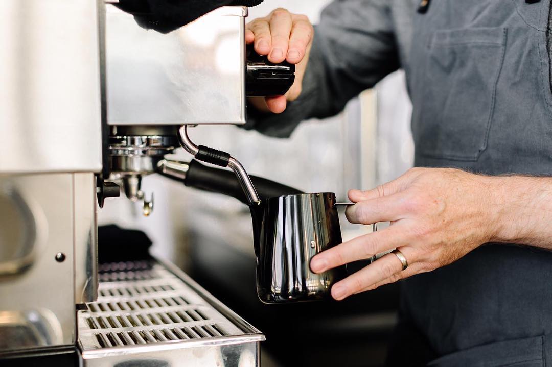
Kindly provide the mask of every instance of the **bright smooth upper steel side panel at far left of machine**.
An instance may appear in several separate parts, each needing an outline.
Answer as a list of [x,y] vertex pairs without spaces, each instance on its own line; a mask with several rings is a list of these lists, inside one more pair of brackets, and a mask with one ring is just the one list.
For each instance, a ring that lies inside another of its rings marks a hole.
[[0,174],[102,168],[98,3],[0,2]]

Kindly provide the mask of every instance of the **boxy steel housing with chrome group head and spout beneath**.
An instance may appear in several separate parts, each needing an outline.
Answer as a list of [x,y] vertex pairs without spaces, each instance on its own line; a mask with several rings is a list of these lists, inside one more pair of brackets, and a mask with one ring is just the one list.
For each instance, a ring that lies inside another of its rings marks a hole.
[[108,124],[114,180],[132,201],[152,199],[141,177],[178,146],[176,126],[245,123],[245,7],[222,7],[168,34],[107,4]]

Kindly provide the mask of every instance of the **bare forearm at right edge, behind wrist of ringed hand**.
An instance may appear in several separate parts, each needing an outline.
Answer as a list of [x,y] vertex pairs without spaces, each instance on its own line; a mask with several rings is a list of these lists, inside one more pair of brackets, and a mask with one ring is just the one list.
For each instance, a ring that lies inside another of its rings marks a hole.
[[491,240],[552,249],[552,177],[488,179],[495,194]]

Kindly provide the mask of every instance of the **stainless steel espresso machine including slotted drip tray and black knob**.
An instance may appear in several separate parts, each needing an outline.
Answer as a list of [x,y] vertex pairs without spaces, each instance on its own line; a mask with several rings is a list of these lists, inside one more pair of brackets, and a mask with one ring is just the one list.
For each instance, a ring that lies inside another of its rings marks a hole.
[[143,11],[0,3],[0,365],[260,365],[263,334],[177,267],[98,263],[97,213],[124,195],[150,214],[141,179],[179,128],[243,125],[251,88],[293,70],[247,62],[244,6],[161,31]]

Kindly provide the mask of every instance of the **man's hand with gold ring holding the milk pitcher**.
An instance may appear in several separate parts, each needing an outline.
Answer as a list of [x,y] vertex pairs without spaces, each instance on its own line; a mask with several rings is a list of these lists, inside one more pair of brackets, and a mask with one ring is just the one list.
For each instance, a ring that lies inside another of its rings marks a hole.
[[408,261],[405,271],[399,258],[388,253],[333,285],[333,298],[342,300],[448,265],[498,240],[503,204],[496,196],[499,180],[457,169],[415,168],[374,190],[351,190],[349,199],[356,204],[347,208],[349,222],[391,225],[319,253],[310,267],[321,273],[374,253],[395,248],[403,253]]

